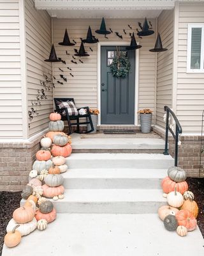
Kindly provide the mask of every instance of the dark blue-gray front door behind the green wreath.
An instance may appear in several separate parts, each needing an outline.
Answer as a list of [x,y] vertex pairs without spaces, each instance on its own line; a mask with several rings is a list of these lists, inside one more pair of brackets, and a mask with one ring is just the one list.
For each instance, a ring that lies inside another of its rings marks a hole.
[[110,63],[115,46],[101,47],[101,124],[134,124],[135,121],[135,51],[120,51],[128,57],[131,68],[125,78],[113,77]]

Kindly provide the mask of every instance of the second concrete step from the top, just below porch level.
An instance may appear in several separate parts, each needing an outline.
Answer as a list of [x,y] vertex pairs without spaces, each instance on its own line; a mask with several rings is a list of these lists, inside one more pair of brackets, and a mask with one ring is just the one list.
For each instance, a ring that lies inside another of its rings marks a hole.
[[171,156],[163,154],[77,153],[67,157],[69,169],[80,168],[137,168],[166,169],[174,164]]

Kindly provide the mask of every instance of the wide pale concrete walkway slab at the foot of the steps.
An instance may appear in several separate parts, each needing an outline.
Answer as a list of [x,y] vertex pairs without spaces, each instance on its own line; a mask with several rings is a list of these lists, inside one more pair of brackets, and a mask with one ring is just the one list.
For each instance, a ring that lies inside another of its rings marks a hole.
[[46,230],[22,237],[14,248],[4,246],[2,256],[203,256],[203,245],[199,228],[180,237],[157,214],[57,213]]

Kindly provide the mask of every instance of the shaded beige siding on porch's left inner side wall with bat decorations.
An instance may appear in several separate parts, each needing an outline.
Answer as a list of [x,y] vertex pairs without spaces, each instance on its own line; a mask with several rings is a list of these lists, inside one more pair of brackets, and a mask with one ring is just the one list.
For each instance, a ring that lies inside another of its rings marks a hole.
[[25,40],[27,61],[27,100],[28,111],[36,109],[37,115],[29,120],[29,136],[36,134],[48,127],[48,116],[53,111],[53,92],[45,91],[47,99],[41,99],[41,106],[33,106],[32,102],[39,103],[36,99],[38,90],[45,90],[40,81],[45,81],[43,74],[52,74],[52,65],[44,60],[50,55],[51,49],[51,19],[46,11],[36,10],[33,0],[25,1]]

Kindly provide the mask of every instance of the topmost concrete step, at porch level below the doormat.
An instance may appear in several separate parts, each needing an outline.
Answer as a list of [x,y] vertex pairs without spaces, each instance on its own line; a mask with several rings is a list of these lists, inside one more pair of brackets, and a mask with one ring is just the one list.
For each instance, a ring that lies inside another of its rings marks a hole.
[[163,153],[164,140],[161,138],[72,138],[73,152],[154,152]]

